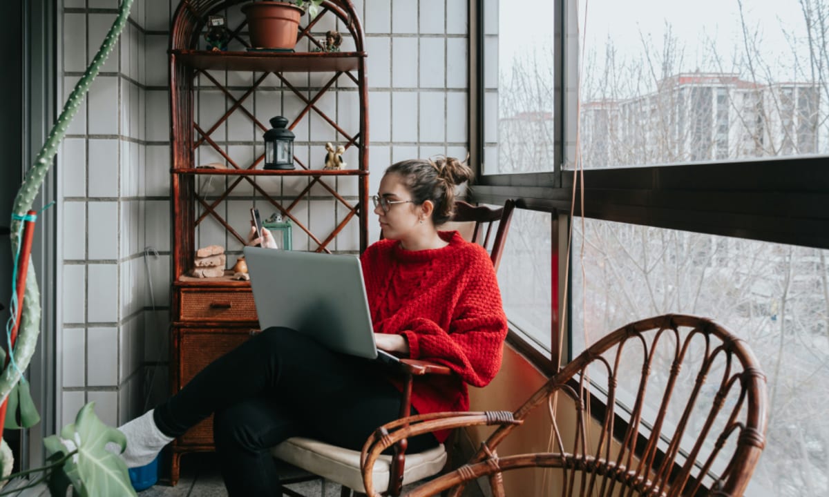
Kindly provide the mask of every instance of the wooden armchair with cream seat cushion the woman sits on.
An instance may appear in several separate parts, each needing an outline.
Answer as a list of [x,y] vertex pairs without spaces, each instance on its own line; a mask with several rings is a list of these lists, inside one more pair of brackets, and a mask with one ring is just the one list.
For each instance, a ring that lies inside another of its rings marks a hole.
[[[507,241],[507,231],[514,207],[515,203],[512,200],[507,200],[504,207],[497,209],[458,202],[458,208],[451,221],[454,224],[449,228],[454,229],[455,225],[471,224],[472,236],[468,240],[475,240],[487,248],[492,264],[497,270],[502,249]],[[490,243],[490,234],[496,224],[495,236]],[[401,359],[399,373],[404,385],[401,393],[403,398],[400,403],[400,417],[405,418],[411,413],[410,396],[414,377],[424,374],[452,374],[452,371],[441,364]],[[375,465],[372,472],[374,482],[372,490],[377,495],[400,495],[404,481],[422,480],[438,474],[446,466],[448,457],[444,445],[415,454],[405,453],[405,438],[399,439],[394,445],[393,456],[378,456],[375,460],[379,464]],[[364,490],[359,451],[332,446],[310,438],[292,437],[279,446],[275,446],[271,452],[281,461],[342,485],[341,495],[343,497],[350,495],[351,490],[356,492]],[[295,495],[291,491],[286,493]]]

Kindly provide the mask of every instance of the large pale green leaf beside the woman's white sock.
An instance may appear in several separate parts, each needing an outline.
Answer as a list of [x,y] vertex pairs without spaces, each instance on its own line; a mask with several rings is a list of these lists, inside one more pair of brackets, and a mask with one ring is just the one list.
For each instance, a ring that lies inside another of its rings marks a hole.
[[[106,450],[106,444],[115,442],[121,451],[127,446],[124,433],[106,426],[95,416],[95,403],[90,402],[80,408],[74,425],[67,425],[61,432],[72,427],[71,437],[78,443],[77,470],[84,488],[78,490],[82,496],[109,497],[110,495],[136,495],[133,485],[129,483],[127,465],[121,456]],[[78,437],[75,437],[75,433]],[[61,435],[63,436],[63,435]]]

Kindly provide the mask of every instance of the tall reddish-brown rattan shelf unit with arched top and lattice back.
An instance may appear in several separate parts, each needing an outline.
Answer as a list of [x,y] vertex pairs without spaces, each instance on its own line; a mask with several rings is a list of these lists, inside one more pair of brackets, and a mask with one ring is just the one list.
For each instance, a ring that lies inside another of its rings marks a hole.
[[[167,51],[171,128],[169,171],[172,179],[171,393],[179,391],[213,359],[247,340],[251,331],[259,330],[250,282],[232,279],[233,273],[227,270],[221,277],[188,275],[195,265],[194,256],[202,237],[207,235],[208,239],[214,239],[214,235],[221,237],[224,231],[225,243],[235,245],[235,241],[230,240],[243,238],[236,229],[244,228],[243,234],[250,229],[246,219],[237,219],[240,212],[236,205],[230,207],[230,202],[254,200],[261,201],[262,205],[273,205],[291,220],[293,243],[311,251],[353,253],[357,249],[355,242],[360,251],[368,246],[371,210],[367,205],[371,200],[368,195],[367,55],[365,34],[354,0],[326,0],[320,9],[322,22],[306,17],[312,26],[303,26],[296,33],[298,46],[310,50],[308,47],[317,46],[319,42],[314,36],[327,27],[336,26],[347,37],[348,51],[245,51],[240,46],[235,51],[199,50],[203,46],[202,33],[207,17],[230,12],[247,1],[171,2],[178,4],[170,24]],[[245,29],[245,18],[235,16],[228,20],[228,29],[239,36]],[[317,29],[312,31],[314,25]],[[246,75],[241,79],[232,78],[233,72]],[[308,73],[320,77],[309,77]],[[288,75],[301,77],[286,77]],[[233,81],[232,85],[229,80]],[[343,88],[347,90],[345,94],[337,93]],[[344,100],[347,109],[320,104],[323,94],[324,98],[333,100],[340,94],[347,97]],[[223,110],[219,108],[222,99]],[[275,101],[261,104],[265,99]],[[216,112],[206,112],[206,108],[216,109]],[[230,147],[230,143],[225,142],[229,136],[225,131],[229,127],[250,131],[257,121],[255,113],[261,114],[259,118],[270,117],[277,109],[289,123],[298,126],[308,127],[311,120],[319,119],[321,129],[318,130],[316,125],[311,127],[313,132],[303,137],[303,147],[317,147],[336,136],[349,149],[350,167],[324,171],[323,163],[319,162],[323,152],[313,152],[313,159],[318,160],[295,161],[293,164],[297,169],[264,170],[261,151],[255,152],[261,147],[260,138],[251,135],[240,139],[235,142],[239,147]],[[206,149],[204,154],[200,147]],[[255,152],[253,157],[251,152]],[[221,169],[203,167],[211,162],[219,162]],[[229,168],[225,169],[225,166]],[[210,188],[203,189],[199,185],[201,180],[206,183],[210,178],[216,179]],[[273,181],[264,181],[264,178],[273,178]],[[339,179],[343,181],[335,181]],[[289,184],[280,185],[284,182]],[[315,216],[307,214],[312,207],[313,212],[319,213],[316,217],[329,214],[326,222],[317,222]],[[354,239],[355,235],[358,239]],[[343,244],[340,245],[338,240]],[[241,253],[234,250],[234,253],[226,254],[230,259],[226,263],[230,265],[232,259],[240,256]],[[172,485],[177,483],[183,455],[213,450],[210,426],[209,420],[201,422],[172,442],[169,466]]]

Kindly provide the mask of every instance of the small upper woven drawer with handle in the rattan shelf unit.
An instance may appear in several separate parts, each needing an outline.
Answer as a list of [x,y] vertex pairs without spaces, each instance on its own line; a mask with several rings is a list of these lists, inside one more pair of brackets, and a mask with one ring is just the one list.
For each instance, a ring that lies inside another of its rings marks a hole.
[[179,321],[258,321],[250,290],[181,290]]

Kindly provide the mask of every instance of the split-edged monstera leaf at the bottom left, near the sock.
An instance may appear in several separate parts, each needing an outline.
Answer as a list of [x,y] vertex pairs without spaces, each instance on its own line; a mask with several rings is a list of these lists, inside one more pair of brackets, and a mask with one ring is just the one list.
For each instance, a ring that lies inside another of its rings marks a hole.
[[[50,461],[53,457],[59,461],[69,455],[68,449],[73,445],[77,446],[77,453],[52,471],[49,485],[52,495],[65,495],[69,483],[80,497],[136,495],[124,460],[105,448],[107,443],[114,442],[124,451],[127,440],[123,433],[106,426],[95,416],[94,402],[80,409],[75,423],[63,427],[61,439],[54,435],[46,439]],[[55,494],[56,490],[63,493]]]

